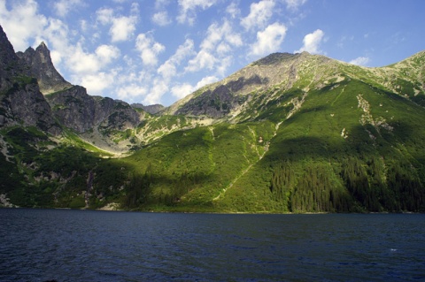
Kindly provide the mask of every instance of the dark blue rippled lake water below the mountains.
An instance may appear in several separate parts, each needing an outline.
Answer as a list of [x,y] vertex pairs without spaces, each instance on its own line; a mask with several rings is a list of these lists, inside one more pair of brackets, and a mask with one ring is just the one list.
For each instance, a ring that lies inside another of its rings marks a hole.
[[425,281],[425,215],[0,209],[1,281]]

